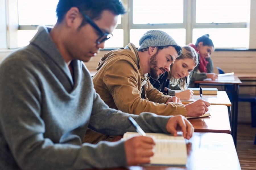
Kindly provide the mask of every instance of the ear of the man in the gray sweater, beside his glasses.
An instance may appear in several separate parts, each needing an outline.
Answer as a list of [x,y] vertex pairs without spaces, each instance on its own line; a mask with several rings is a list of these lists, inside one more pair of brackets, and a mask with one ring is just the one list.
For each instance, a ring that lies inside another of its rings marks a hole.
[[76,25],[80,25],[82,22],[82,17],[77,7],[72,7],[65,14],[65,21],[68,27],[73,27]]

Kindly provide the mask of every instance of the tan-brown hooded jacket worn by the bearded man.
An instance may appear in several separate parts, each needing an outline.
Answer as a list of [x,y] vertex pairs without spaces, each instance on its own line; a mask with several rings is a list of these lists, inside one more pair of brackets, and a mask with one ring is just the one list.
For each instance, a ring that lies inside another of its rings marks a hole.
[[[143,74],[137,49],[129,44],[128,49],[112,50],[105,54],[92,77],[94,88],[110,107],[130,114],[152,112],[158,115],[187,116],[183,104],[165,102],[171,97],[155,89]],[[141,97],[144,84],[145,98]]]

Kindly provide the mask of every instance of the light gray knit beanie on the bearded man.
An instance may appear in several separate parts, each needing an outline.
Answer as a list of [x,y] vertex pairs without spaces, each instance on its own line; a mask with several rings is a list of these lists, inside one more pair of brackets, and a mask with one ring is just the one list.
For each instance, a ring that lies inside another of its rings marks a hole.
[[145,49],[148,47],[162,47],[162,46],[173,46],[177,53],[178,57],[182,53],[182,47],[179,46],[175,40],[166,32],[160,30],[149,30],[143,34],[139,40],[139,49]]

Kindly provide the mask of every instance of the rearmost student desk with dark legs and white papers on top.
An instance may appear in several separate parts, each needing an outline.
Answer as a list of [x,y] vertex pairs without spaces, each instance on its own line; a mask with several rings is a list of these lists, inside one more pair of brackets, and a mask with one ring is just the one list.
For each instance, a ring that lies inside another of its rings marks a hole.
[[[236,146],[236,135],[237,135],[237,119],[238,119],[238,94],[239,85],[241,84],[240,79],[237,76],[229,75],[218,77],[216,80],[205,80],[205,81],[195,81],[195,86],[200,85],[218,85],[224,86],[227,93],[232,94],[232,115],[231,115],[231,134],[234,139]],[[232,87],[229,89],[229,87]]]

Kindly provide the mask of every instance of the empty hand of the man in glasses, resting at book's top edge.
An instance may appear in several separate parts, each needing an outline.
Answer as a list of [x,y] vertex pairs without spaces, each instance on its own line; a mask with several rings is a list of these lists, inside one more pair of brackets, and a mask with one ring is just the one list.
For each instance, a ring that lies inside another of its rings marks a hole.
[[183,137],[186,139],[190,139],[193,135],[194,127],[186,119],[186,117],[182,115],[176,115],[168,120],[166,124],[166,130],[174,136],[177,136],[177,131],[182,131]]

